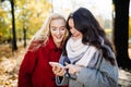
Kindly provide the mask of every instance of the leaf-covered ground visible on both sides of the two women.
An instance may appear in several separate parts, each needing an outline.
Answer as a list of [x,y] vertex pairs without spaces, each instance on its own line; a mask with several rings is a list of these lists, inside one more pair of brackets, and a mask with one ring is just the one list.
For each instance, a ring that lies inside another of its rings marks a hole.
[[[25,50],[19,46],[19,50],[12,52],[10,45],[0,45],[0,87],[17,87],[19,67]],[[130,72],[119,69],[119,86],[131,87]]]

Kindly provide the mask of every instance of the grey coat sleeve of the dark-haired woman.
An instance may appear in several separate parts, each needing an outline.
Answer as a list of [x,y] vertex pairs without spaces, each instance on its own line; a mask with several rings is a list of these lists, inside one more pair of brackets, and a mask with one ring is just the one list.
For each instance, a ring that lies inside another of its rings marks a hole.
[[96,52],[94,57],[99,57],[98,59],[100,59],[98,60],[97,67],[82,67],[76,77],[76,82],[83,84],[85,87],[117,87],[117,63],[116,65],[111,65],[99,52]]

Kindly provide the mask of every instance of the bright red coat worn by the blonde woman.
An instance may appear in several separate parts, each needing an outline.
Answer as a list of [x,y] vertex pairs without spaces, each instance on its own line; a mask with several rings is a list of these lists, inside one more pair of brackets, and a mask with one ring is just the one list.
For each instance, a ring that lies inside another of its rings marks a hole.
[[27,51],[20,67],[19,87],[58,87],[49,61],[58,62],[60,54],[52,38],[46,47]]

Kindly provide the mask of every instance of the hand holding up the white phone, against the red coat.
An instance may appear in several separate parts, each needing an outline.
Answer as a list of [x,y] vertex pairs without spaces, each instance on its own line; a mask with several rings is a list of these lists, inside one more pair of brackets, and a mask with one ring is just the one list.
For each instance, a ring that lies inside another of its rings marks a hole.
[[52,63],[49,62],[49,64],[52,66],[52,72],[57,76],[63,76],[66,73],[64,66],[60,65],[59,63]]

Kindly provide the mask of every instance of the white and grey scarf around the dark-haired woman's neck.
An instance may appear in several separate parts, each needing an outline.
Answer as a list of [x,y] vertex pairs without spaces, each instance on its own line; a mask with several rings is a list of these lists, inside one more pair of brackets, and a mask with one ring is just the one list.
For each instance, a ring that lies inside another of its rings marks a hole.
[[75,64],[82,66],[88,65],[96,51],[95,47],[83,45],[82,39],[78,39],[76,41],[74,41],[72,38],[68,40],[66,49],[71,63],[75,62]]

